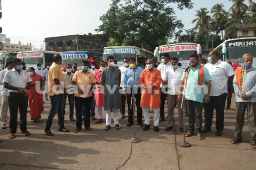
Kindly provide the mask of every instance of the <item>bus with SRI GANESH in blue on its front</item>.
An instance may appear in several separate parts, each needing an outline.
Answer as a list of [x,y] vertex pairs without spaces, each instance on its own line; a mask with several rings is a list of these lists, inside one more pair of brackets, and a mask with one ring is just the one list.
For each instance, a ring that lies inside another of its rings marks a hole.
[[102,57],[102,53],[98,53],[95,51],[66,51],[63,53],[60,53],[62,56],[62,64],[61,66],[66,66],[66,64],[73,63],[77,64],[77,69],[81,69],[81,63],[83,60],[88,60],[88,58],[92,57],[95,60],[95,64],[99,63]]

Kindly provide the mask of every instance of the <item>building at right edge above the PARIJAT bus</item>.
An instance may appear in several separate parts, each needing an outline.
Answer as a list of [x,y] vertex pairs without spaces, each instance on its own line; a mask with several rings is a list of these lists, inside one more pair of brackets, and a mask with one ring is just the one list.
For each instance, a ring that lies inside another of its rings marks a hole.
[[236,24],[237,37],[256,37],[256,23]]

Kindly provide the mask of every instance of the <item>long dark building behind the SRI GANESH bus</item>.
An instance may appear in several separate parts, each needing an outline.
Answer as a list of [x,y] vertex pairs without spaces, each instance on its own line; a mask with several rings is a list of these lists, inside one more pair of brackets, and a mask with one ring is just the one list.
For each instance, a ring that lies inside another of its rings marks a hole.
[[47,51],[96,51],[102,53],[107,46],[109,38],[100,34],[66,35],[60,37],[45,38],[45,50]]

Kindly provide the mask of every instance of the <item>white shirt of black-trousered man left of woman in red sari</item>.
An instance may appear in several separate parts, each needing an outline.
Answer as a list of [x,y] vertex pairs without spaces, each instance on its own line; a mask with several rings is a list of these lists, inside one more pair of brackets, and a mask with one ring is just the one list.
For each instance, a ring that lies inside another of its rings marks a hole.
[[[31,78],[28,73],[24,70],[21,70],[20,74],[14,68],[5,73],[3,82],[9,83],[14,87],[25,88],[28,85],[28,82],[31,82]],[[9,92],[19,93],[18,90],[9,90]]]

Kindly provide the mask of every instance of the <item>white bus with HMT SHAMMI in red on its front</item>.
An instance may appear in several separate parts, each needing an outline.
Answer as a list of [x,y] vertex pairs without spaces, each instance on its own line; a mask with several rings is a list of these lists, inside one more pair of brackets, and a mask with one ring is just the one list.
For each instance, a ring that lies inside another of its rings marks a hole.
[[161,63],[161,54],[168,53],[170,58],[176,57],[181,63],[181,68],[186,69],[190,64],[190,55],[201,55],[202,49],[200,44],[196,43],[177,43],[166,44],[156,47],[154,56],[157,57],[157,61]]

